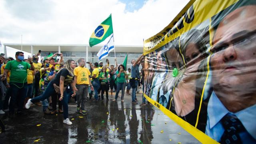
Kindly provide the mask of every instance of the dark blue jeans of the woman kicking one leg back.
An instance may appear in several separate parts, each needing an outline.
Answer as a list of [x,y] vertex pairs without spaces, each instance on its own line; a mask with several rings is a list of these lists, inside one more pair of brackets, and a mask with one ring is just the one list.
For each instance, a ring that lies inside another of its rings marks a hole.
[[[48,86],[46,87],[45,91],[43,94],[41,94],[40,96],[37,96],[35,98],[31,99],[31,102],[38,102],[38,101],[43,101],[46,98],[49,98],[51,95],[56,94],[55,90],[54,90],[54,86],[53,86],[53,82],[50,81]],[[62,105],[63,105],[63,117],[64,119],[68,118],[68,100],[69,100],[69,96],[67,96],[66,91],[64,91],[63,93],[63,100],[62,100]]]

